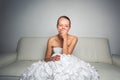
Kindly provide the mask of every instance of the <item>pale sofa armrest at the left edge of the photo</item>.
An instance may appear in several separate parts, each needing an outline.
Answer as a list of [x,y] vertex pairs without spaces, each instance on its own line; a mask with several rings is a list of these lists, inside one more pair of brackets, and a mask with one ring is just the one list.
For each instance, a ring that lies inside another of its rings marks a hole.
[[17,53],[0,54],[0,67],[6,66],[16,61]]

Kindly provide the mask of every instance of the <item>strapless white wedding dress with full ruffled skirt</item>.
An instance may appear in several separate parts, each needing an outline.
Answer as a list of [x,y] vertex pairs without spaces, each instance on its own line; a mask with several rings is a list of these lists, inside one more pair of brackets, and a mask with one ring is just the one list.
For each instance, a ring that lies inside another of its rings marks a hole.
[[95,68],[73,55],[62,54],[62,48],[53,48],[53,55],[60,55],[59,61],[38,61],[33,63],[20,80],[99,80]]

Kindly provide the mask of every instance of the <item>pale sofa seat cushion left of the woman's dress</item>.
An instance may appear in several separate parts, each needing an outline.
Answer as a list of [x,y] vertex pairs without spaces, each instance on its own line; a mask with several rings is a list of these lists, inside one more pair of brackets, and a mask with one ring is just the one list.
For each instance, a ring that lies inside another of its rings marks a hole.
[[17,61],[6,67],[0,68],[0,76],[20,76],[35,61]]

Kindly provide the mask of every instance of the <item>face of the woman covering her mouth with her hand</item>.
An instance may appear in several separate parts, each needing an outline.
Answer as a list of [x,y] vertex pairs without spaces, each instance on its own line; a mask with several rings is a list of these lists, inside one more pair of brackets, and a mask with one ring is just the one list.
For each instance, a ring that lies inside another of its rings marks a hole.
[[69,20],[67,20],[66,18],[60,18],[59,23],[57,25],[57,30],[58,30],[59,34],[61,34],[63,32],[67,34],[69,29],[70,29]]

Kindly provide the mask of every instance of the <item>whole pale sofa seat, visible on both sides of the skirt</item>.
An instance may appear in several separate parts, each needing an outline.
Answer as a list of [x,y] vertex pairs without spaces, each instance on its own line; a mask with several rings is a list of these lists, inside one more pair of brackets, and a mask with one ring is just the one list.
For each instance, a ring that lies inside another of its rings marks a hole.
[[[20,75],[28,68],[30,65],[37,61],[16,61],[9,66],[0,69],[1,76],[9,77],[20,77]],[[118,80],[120,79],[120,67],[113,64],[106,63],[90,63],[100,74],[100,80]]]

